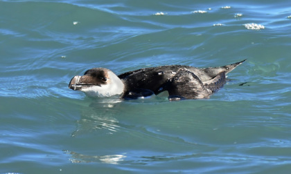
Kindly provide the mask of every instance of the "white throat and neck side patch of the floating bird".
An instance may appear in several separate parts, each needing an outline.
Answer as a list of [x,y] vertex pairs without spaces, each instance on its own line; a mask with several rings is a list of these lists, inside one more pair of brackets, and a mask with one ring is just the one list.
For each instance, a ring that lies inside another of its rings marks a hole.
[[124,84],[112,71],[108,71],[109,81],[101,86],[91,86],[82,88],[81,91],[90,97],[110,97],[121,95],[124,90]]

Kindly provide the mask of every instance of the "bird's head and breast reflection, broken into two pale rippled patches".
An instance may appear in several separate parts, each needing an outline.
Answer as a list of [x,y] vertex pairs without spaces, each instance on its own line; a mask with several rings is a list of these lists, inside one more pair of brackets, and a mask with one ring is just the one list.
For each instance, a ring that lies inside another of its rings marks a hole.
[[[105,131],[105,133],[113,134],[119,131],[118,105],[121,99],[86,99],[89,100],[87,106],[84,106],[80,113],[80,119],[76,121],[76,131],[71,134],[72,137],[78,135],[92,133],[94,131]],[[71,155],[69,160],[72,163],[89,163],[101,162],[106,164],[119,164],[126,157],[122,154],[116,155],[83,155],[73,151],[64,150],[64,153]]]

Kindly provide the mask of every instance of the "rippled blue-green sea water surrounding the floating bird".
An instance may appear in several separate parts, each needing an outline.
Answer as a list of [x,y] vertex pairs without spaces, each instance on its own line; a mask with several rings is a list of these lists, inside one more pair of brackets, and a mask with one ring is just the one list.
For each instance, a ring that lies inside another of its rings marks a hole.
[[[291,1],[0,0],[0,173],[290,173]],[[224,66],[211,99],[92,99],[116,74]]]

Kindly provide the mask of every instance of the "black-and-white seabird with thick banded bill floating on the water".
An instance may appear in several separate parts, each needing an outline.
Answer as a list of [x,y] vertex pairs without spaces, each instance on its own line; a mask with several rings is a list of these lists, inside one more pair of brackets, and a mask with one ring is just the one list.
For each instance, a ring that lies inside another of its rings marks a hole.
[[91,97],[137,99],[158,95],[167,90],[170,101],[206,99],[222,88],[227,73],[245,60],[214,68],[182,65],[141,68],[121,75],[116,75],[107,68],[91,68],[82,76],[74,76],[69,88],[80,90]]

